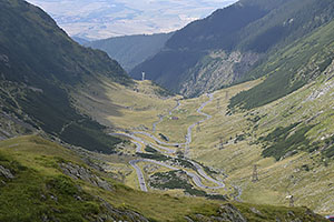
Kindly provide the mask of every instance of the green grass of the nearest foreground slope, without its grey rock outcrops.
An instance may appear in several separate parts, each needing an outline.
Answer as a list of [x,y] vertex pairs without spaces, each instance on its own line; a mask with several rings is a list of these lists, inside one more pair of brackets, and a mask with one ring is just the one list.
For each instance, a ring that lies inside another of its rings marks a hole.
[[[94,173],[112,184],[112,191],[98,189],[81,180],[72,180],[62,174],[59,162],[70,161],[84,168],[88,167],[72,151],[35,135],[0,142],[0,164],[10,169],[16,176],[12,180],[0,176],[6,181],[0,186],[1,221],[40,221],[42,215],[60,221],[96,220],[97,214],[104,212],[96,196],[101,196],[116,208],[140,212],[154,221],[185,221],[185,215],[198,213],[215,215],[219,205],[218,202],[203,199],[143,193],[120,185],[94,170]],[[82,201],[78,201],[75,195],[80,195]],[[57,201],[51,196],[57,198]],[[236,206],[252,221],[288,218],[289,211],[295,216],[303,218],[303,221],[321,221],[311,219],[302,208],[240,203]],[[253,213],[250,206],[259,210],[263,215]]]

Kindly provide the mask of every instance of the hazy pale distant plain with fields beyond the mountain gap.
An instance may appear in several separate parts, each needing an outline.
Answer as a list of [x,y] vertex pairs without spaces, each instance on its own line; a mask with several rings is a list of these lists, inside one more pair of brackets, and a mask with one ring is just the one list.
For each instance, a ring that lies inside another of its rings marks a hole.
[[28,0],[69,36],[89,40],[170,32],[236,0]]

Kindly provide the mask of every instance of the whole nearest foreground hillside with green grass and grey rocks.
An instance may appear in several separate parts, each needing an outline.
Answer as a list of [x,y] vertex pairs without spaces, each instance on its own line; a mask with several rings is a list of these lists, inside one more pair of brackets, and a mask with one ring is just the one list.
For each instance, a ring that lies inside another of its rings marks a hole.
[[94,160],[82,160],[76,152],[39,137],[0,142],[0,220],[325,221],[306,208],[274,208],[135,191],[95,169]]

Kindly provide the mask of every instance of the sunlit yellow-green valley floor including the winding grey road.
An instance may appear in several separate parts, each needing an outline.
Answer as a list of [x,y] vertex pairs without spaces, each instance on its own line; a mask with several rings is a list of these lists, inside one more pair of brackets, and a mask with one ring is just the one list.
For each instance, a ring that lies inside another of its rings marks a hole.
[[[303,149],[278,161],[264,158],[268,144],[262,140],[275,129],[323,118],[322,102],[308,98],[324,89],[315,83],[268,105],[230,113],[229,99],[261,81],[183,99],[159,95],[148,81],[126,88],[104,80],[72,97],[81,111],[110,127],[109,133],[131,141],[119,145],[117,157],[104,159],[105,170],[129,186],[272,205],[288,205],[286,196],[293,195],[295,205],[332,213],[334,164],[330,159]],[[332,91],[327,89],[323,99]],[[315,141],[330,133],[334,129],[327,123],[308,130],[306,138]],[[253,182],[254,173],[258,181]]]

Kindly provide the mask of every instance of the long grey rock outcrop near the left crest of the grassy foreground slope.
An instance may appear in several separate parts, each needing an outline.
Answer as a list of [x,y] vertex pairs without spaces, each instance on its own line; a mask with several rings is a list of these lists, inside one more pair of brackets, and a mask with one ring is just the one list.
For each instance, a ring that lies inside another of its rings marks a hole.
[[94,174],[90,170],[88,170],[84,167],[76,165],[72,163],[60,163],[60,168],[66,175],[72,178],[75,180],[87,181],[87,182],[89,182],[98,188],[105,189],[107,191],[112,190],[111,185],[107,181],[100,179],[99,176]]

